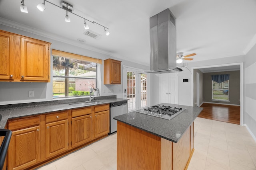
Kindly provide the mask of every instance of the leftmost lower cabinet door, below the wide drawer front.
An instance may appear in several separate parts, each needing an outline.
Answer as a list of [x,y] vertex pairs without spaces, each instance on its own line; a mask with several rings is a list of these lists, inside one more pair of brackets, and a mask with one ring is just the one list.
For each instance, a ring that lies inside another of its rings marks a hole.
[[8,149],[8,169],[23,170],[40,159],[39,126],[12,131]]

